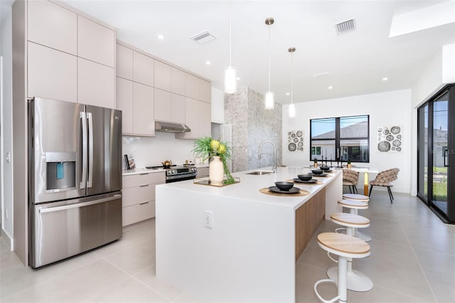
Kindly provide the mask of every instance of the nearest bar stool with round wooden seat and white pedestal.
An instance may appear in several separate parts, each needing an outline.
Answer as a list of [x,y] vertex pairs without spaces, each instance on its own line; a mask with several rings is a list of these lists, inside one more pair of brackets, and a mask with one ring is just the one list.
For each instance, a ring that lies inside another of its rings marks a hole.
[[[318,235],[318,245],[327,251],[328,257],[332,259],[330,253],[338,255],[338,275],[337,279],[323,279],[314,284],[316,296],[324,303],[348,301],[348,259],[368,257],[370,255],[370,245],[359,238],[342,233],[321,233]],[[332,259],[333,260],[333,259]],[[338,283],[337,283],[338,281]],[[318,285],[323,282],[332,282],[338,286],[338,296],[326,300],[318,292]]]

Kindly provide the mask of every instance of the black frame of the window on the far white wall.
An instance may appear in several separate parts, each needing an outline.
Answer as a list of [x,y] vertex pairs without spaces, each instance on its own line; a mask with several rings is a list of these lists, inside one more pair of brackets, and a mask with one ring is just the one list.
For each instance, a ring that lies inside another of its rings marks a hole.
[[[341,119],[343,118],[352,118],[352,117],[367,117],[367,137],[349,137],[349,138],[341,138],[340,135],[341,135],[341,127],[340,127],[340,122],[341,122]],[[368,153],[367,153],[367,159],[365,159],[364,161],[357,161],[355,160],[355,163],[370,163],[370,115],[355,115],[355,116],[341,116],[341,117],[324,117],[324,118],[317,118],[317,119],[310,119],[310,161],[313,161],[314,158],[312,156],[314,156],[311,151],[312,151],[312,147],[313,147],[313,137],[312,137],[312,132],[311,132],[311,128],[312,128],[312,122],[314,120],[320,120],[320,119],[335,119],[335,138],[330,138],[330,139],[316,139],[317,141],[335,141],[335,150],[339,150],[340,151],[340,157],[341,157],[341,141],[343,140],[346,140],[346,139],[354,139],[354,140],[366,140],[367,141],[367,147],[368,147]],[[315,144],[315,147],[317,146],[320,146],[319,144]],[[322,149],[322,147],[321,147]],[[325,159],[324,159],[325,161]],[[336,153],[335,153],[335,159],[327,159],[327,161],[341,161],[341,159],[337,159],[336,158]]]

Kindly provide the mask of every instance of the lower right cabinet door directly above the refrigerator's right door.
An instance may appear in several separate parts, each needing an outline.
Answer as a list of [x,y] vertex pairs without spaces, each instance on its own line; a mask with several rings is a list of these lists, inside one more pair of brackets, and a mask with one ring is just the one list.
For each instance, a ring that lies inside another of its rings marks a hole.
[[77,102],[115,108],[114,68],[77,58]]

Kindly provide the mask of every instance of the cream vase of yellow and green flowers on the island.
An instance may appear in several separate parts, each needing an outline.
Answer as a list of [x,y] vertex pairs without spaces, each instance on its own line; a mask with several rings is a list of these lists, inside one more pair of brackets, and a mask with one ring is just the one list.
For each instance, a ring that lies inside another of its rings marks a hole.
[[230,159],[230,147],[224,142],[211,137],[203,137],[194,142],[193,153],[196,157],[202,157],[203,161],[210,159],[209,179],[211,182],[234,183],[234,179],[228,169],[226,160]]

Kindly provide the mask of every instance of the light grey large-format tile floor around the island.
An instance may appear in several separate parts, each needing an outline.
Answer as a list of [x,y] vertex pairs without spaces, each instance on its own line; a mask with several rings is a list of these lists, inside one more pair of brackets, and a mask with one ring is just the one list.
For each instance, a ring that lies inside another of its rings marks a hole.
[[[409,195],[395,193],[390,205],[381,191],[361,215],[371,220],[372,255],[354,268],[375,286],[349,291],[348,302],[455,302],[455,225]],[[317,233],[334,228],[325,221]],[[154,229],[153,219],[127,226],[122,240],[39,270],[23,267],[0,240],[0,302],[198,302],[156,278]],[[319,302],[314,282],[335,265],[315,236],[296,264],[297,302]],[[336,293],[333,285],[319,289],[326,298]]]

